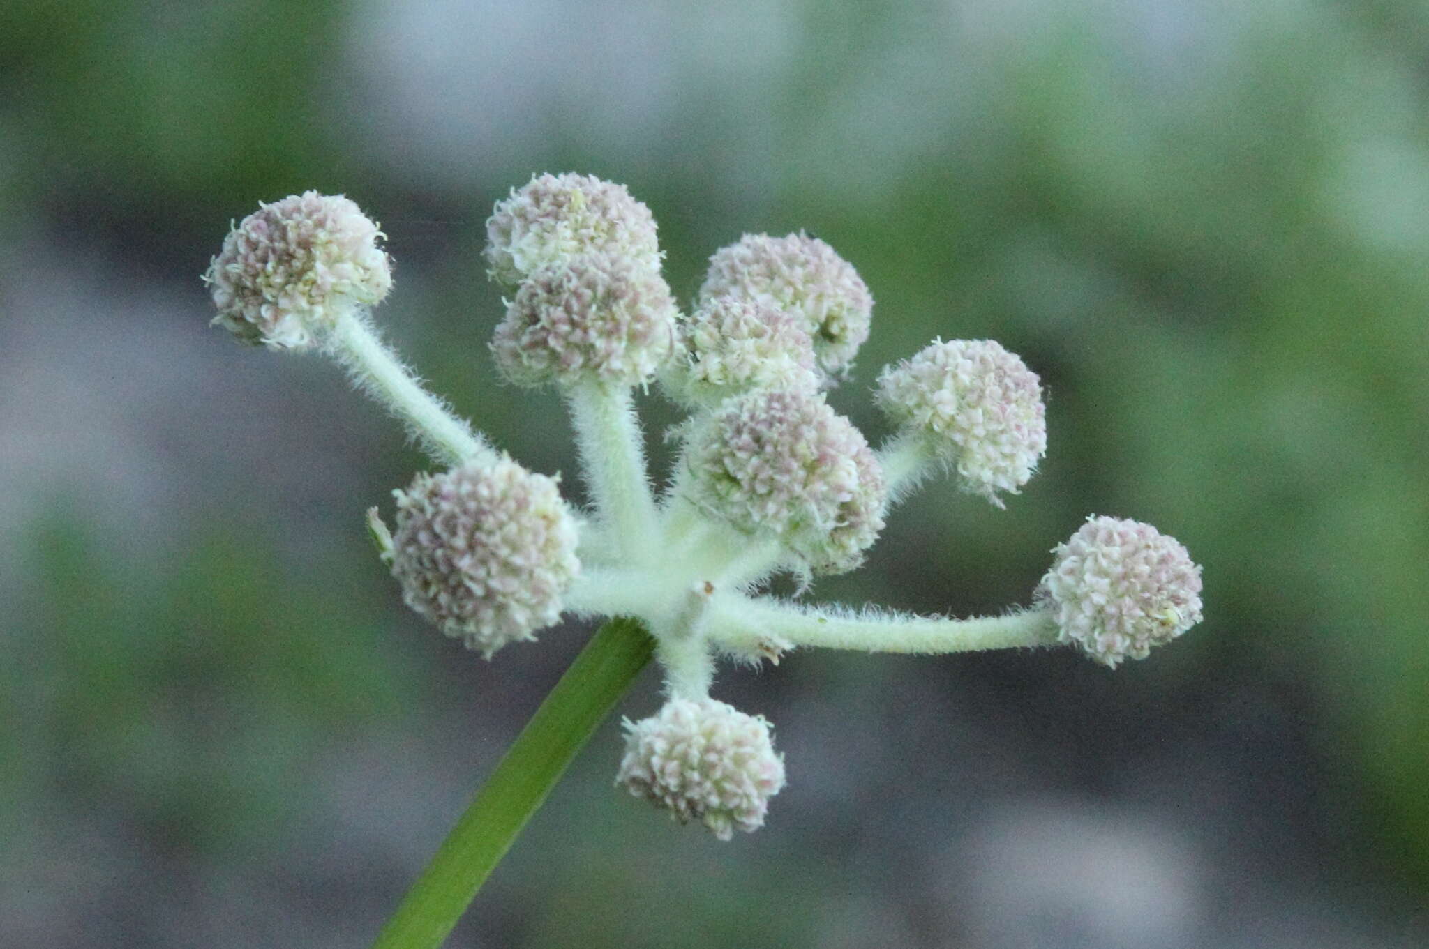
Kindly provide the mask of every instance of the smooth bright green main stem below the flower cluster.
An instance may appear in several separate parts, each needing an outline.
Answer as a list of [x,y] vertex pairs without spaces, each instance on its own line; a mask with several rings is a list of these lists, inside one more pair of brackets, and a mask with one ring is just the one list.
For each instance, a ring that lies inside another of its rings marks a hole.
[[373,949],[442,945],[653,649],[639,619],[617,616],[596,631],[407,890]]

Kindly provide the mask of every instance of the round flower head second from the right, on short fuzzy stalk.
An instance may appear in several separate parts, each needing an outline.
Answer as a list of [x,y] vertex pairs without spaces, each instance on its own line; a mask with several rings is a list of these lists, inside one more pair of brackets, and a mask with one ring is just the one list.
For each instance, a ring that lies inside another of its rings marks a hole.
[[876,401],[997,507],[997,492],[1016,494],[1047,450],[1037,374],[992,340],[935,341],[883,370]]

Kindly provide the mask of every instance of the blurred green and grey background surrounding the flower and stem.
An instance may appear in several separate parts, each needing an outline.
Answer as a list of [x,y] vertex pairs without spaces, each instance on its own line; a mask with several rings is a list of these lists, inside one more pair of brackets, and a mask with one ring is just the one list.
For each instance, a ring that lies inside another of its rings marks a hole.
[[617,795],[612,721],[450,945],[1426,945],[1426,10],[0,6],[0,945],[366,945],[569,662],[583,626],[483,664],[402,609],[362,515],[424,460],[197,278],[259,200],[346,193],[393,340],[574,489],[557,400],[486,354],[484,218],[546,170],[644,200],[684,300],[743,231],[833,244],[873,441],[935,335],[1042,375],[1007,511],[933,485],[816,597],[1022,604],[1096,512],[1183,541],[1206,621],[1115,674],[727,671],[787,756],[765,831]]

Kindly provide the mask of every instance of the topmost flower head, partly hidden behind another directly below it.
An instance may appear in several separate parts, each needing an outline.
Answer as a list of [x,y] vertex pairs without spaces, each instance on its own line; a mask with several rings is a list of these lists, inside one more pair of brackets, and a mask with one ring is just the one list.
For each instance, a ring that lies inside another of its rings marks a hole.
[[486,221],[492,278],[514,287],[536,270],[592,251],[660,270],[654,217],[623,184],[542,174],[497,201]]

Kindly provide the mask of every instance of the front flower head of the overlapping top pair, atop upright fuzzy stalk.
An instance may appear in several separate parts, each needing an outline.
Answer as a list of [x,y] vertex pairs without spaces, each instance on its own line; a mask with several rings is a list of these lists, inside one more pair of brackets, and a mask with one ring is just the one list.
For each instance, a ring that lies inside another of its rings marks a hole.
[[659,273],[623,257],[577,254],[522,283],[492,352],[522,385],[637,385],[673,352],[677,315]]

